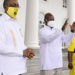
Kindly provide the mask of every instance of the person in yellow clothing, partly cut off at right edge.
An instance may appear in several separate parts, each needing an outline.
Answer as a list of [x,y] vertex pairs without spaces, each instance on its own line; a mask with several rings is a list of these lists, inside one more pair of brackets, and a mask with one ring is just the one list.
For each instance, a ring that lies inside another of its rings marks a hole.
[[[75,26],[75,22],[72,25]],[[75,75],[75,35],[68,46],[68,68],[70,75]]]

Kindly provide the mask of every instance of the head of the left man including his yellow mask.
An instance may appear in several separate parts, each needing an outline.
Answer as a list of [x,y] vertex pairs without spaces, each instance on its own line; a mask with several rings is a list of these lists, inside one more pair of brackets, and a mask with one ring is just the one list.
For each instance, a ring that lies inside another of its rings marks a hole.
[[14,16],[17,15],[19,4],[17,0],[4,0],[3,7],[5,13],[14,18]]

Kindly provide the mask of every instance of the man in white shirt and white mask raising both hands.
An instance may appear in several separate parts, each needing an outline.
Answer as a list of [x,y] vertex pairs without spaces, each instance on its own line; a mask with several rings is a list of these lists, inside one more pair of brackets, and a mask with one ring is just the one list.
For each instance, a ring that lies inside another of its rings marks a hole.
[[[40,40],[40,75],[55,75],[54,71],[62,68],[62,42],[69,42],[73,37],[73,32],[64,35],[64,30],[67,27],[67,21],[62,29],[54,28],[54,16],[47,13],[44,17],[45,25],[39,31]],[[75,30],[75,26],[71,27],[71,31]],[[55,72],[56,73],[56,72]]]

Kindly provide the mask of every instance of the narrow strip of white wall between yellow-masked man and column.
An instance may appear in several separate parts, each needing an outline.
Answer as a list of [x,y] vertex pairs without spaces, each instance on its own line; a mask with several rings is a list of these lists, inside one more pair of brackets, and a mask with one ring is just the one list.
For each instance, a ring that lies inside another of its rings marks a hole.
[[27,0],[18,0],[20,8],[17,15],[17,20],[21,27],[23,39],[25,39],[26,1]]

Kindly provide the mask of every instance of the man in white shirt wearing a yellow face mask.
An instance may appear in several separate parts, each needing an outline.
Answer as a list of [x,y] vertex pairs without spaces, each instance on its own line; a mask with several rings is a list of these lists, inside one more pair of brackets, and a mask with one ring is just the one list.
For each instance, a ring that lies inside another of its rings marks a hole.
[[5,13],[0,15],[0,75],[19,75],[27,72],[26,57],[34,56],[24,44],[17,24],[17,0],[4,0]]

